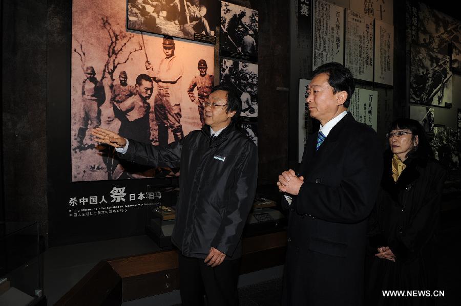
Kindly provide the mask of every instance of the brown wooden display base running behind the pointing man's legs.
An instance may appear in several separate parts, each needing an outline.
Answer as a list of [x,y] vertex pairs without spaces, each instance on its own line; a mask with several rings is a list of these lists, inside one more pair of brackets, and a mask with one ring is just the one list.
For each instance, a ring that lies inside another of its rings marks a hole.
[[[286,232],[243,238],[240,274],[285,262]],[[55,305],[121,305],[179,289],[176,250],[100,261]]]

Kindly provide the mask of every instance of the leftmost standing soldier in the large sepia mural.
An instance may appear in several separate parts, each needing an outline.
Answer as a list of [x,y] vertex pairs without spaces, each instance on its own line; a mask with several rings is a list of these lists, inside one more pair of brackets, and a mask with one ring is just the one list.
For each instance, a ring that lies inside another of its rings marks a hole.
[[96,128],[101,125],[101,105],[106,101],[106,92],[101,81],[96,79],[96,72],[92,66],[85,69],[86,78],[81,84],[81,106],[82,117],[75,140],[77,146],[75,150],[94,148],[94,144],[85,144],[85,136],[90,125]]

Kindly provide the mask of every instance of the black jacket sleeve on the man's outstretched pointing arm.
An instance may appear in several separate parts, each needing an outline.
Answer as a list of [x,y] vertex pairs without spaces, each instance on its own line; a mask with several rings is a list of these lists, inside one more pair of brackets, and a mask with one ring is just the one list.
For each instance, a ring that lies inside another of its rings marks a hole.
[[128,140],[128,150],[119,154],[120,158],[139,165],[152,167],[179,167],[181,160],[182,141],[176,141],[166,146],[155,146],[132,139]]

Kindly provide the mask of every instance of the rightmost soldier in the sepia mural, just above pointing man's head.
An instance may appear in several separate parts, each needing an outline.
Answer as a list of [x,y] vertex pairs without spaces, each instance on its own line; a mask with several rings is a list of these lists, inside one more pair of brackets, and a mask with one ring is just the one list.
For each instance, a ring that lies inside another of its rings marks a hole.
[[[202,126],[205,125],[205,116],[203,115],[203,102],[208,99],[209,94],[213,88],[214,77],[212,74],[207,74],[206,70],[208,66],[204,59],[199,60],[198,62],[199,75],[194,76],[187,89],[187,94],[191,101],[198,105],[198,111],[200,115],[200,122]],[[198,99],[194,95],[194,89],[197,88]]]

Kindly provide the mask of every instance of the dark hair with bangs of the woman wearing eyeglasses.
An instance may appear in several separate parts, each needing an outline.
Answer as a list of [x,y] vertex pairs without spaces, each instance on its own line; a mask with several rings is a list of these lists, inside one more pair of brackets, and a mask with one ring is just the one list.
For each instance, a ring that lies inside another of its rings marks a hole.
[[389,132],[393,129],[409,129],[412,133],[413,142],[416,136],[418,137],[418,145],[414,146],[407,153],[407,158],[422,158],[426,160],[434,158],[434,151],[427,140],[423,126],[419,122],[409,118],[399,118],[391,123]]

